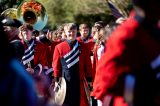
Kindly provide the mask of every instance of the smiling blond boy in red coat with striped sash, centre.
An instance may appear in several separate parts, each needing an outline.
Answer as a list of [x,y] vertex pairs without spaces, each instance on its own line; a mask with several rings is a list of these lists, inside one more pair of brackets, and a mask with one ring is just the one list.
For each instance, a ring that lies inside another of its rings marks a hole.
[[53,70],[56,82],[63,76],[67,93],[63,106],[89,106],[84,81],[91,81],[91,60],[85,45],[76,40],[77,26],[68,23],[64,27],[67,39],[58,44],[53,54]]

